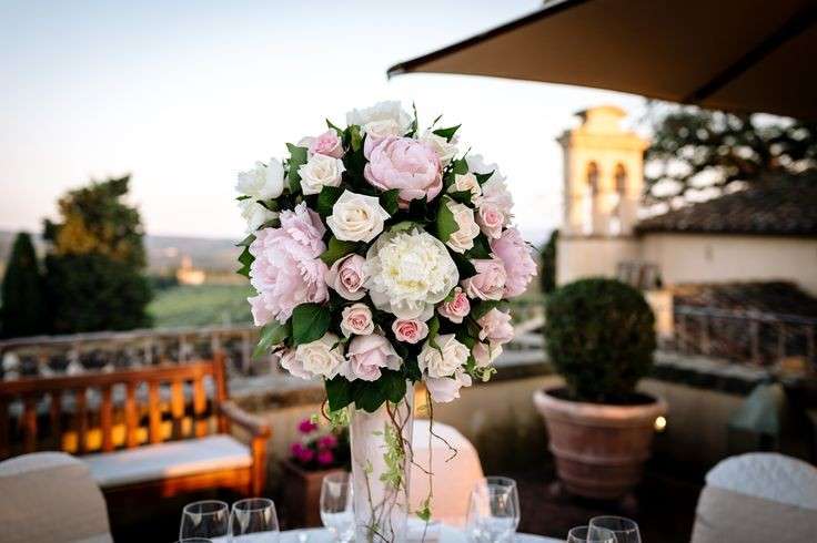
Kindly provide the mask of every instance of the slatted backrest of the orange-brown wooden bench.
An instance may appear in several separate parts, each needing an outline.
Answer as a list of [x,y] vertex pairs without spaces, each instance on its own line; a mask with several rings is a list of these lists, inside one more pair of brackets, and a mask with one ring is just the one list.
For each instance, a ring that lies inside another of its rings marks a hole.
[[[224,356],[112,372],[0,382],[0,459],[77,454],[226,430]],[[214,428],[215,427],[215,428]]]

